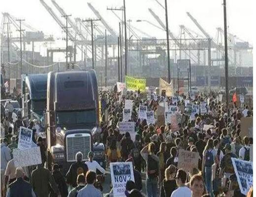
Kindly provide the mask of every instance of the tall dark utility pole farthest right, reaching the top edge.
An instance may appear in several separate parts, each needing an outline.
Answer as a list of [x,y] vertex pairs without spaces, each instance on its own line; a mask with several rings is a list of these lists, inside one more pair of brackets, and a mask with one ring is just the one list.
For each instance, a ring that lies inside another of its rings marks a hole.
[[[226,81],[226,106],[228,107],[229,92],[228,92],[228,36],[227,36],[227,4],[226,0],[223,0],[224,8],[224,41],[225,41],[225,81]],[[229,112],[229,110],[228,110]]]

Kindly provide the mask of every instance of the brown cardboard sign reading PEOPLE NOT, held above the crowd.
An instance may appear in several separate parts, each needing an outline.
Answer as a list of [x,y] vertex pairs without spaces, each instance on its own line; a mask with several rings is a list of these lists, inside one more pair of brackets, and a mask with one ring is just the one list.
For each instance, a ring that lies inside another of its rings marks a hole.
[[178,169],[183,169],[186,172],[191,172],[193,168],[198,167],[199,153],[179,150]]

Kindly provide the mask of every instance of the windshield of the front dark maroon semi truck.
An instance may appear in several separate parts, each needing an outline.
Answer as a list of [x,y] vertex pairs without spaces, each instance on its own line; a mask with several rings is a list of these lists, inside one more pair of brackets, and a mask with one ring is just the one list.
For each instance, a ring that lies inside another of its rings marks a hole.
[[92,124],[96,122],[96,111],[59,111],[56,112],[57,124]]

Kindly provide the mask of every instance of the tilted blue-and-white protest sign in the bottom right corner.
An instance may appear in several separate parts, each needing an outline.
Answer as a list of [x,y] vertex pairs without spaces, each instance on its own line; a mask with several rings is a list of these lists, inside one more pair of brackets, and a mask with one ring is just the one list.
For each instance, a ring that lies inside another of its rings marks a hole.
[[253,166],[252,162],[231,158],[235,169],[236,179],[242,194],[247,192],[253,185]]

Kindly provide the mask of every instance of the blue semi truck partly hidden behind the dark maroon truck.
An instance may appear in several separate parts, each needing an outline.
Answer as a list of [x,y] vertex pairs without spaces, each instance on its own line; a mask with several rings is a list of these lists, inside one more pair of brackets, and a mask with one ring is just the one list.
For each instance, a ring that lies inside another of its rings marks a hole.
[[47,74],[22,75],[22,117],[39,119],[46,110]]

